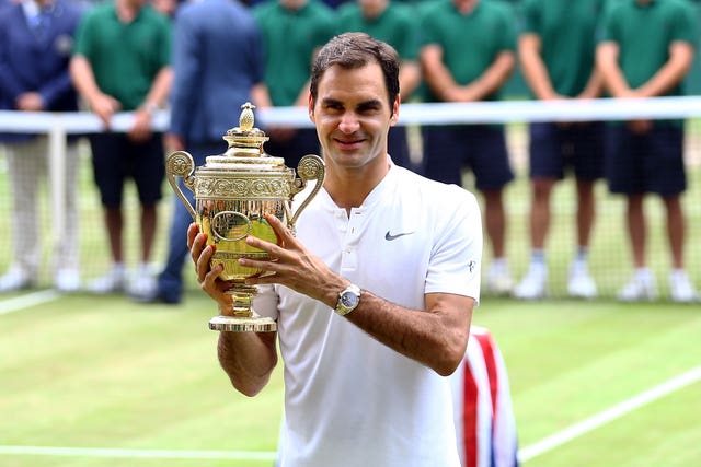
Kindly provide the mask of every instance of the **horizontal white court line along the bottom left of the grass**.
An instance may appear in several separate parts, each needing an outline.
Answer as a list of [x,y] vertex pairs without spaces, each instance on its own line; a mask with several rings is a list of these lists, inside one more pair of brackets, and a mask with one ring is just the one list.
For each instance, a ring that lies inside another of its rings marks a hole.
[[120,450],[111,447],[0,446],[0,454],[39,456],[126,457],[151,459],[275,460],[277,453],[255,451]]

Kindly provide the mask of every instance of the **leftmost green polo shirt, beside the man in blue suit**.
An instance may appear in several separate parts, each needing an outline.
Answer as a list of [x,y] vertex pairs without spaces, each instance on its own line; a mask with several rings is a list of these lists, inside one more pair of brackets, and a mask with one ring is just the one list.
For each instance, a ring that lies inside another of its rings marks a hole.
[[90,61],[102,92],[119,101],[123,110],[134,110],[171,62],[171,25],[149,5],[125,24],[113,2],[102,3],[80,22],[73,54]]

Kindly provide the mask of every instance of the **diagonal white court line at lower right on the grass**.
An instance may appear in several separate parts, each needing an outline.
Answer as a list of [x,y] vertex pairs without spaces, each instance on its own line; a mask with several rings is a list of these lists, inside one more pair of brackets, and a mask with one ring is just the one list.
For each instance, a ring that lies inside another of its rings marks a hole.
[[697,366],[696,369],[689,370],[688,372],[675,376],[671,380],[667,380],[666,382],[652,387],[639,394],[637,396],[631,397],[628,400],[623,400],[622,402],[617,404],[616,406],[612,406],[593,417],[589,417],[586,420],[583,420],[555,434],[544,437],[541,441],[531,444],[530,446],[526,446],[519,450],[518,459],[521,463],[530,460],[533,457],[547,453],[548,451],[552,451],[555,447],[559,447],[560,445],[572,441],[577,436],[582,436],[583,434],[591,430],[595,430],[610,421],[613,421],[617,418],[630,411],[633,411],[646,404],[657,400],[669,393],[696,383],[699,380],[701,380],[701,366]]

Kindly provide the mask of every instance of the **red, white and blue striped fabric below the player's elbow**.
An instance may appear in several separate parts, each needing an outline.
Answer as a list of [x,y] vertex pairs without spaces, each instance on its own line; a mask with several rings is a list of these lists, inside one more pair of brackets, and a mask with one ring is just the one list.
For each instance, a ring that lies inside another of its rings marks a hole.
[[506,365],[487,329],[471,327],[466,357],[450,378],[462,466],[518,466],[516,420]]

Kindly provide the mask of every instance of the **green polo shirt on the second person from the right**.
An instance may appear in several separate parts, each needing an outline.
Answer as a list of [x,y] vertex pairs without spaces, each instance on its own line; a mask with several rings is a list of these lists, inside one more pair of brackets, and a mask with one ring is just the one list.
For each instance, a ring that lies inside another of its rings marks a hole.
[[521,33],[540,37],[541,58],[560,95],[578,95],[591,77],[604,2],[525,0],[521,5]]

